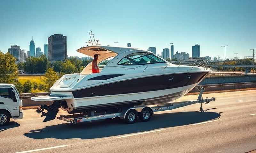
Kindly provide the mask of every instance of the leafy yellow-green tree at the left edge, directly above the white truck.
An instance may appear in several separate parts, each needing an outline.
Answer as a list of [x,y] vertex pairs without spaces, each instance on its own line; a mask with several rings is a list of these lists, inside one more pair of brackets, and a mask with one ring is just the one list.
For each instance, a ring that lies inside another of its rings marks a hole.
[[17,78],[16,58],[10,53],[0,51],[0,83],[11,83]]

